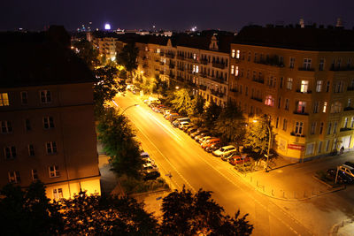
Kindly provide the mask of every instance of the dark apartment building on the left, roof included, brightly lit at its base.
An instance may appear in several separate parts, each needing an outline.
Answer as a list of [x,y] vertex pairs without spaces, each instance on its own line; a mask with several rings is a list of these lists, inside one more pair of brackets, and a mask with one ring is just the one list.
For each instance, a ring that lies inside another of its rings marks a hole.
[[39,179],[51,199],[100,194],[94,78],[70,37],[52,27],[0,38],[0,186]]

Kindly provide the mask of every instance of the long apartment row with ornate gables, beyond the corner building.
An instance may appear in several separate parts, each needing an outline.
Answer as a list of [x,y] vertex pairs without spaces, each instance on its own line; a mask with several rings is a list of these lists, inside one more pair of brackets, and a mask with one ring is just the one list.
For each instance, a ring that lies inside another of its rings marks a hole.
[[227,103],[229,45],[233,35],[176,34],[171,38],[149,36],[140,49],[138,71],[147,78],[160,78],[169,86],[188,86],[206,103]]

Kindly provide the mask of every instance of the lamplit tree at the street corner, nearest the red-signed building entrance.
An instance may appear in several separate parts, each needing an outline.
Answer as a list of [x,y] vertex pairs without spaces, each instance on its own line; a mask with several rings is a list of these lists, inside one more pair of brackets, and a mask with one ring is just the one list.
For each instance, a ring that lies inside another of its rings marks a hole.
[[248,152],[253,159],[259,160],[264,158],[268,150],[269,142],[269,129],[272,132],[272,127],[270,126],[269,118],[264,115],[257,122],[250,124],[249,129],[246,133],[246,139],[244,142],[244,152]]

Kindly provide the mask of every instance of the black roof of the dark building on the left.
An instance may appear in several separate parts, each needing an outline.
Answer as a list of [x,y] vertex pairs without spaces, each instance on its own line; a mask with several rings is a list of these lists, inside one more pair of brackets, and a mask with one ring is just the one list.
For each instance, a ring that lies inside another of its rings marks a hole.
[[0,88],[89,82],[88,66],[70,49],[64,27],[0,33]]

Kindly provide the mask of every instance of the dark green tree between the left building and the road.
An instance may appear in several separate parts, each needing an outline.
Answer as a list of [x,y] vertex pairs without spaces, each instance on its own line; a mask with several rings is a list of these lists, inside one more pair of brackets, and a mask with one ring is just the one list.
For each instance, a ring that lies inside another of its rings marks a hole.
[[139,144],[128,119],[113,108],[106,109],[100,118],[98,140],[104,144],[104,151],[111,156],[112,171],[121,176],[138,178],[142,169]]

